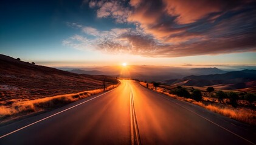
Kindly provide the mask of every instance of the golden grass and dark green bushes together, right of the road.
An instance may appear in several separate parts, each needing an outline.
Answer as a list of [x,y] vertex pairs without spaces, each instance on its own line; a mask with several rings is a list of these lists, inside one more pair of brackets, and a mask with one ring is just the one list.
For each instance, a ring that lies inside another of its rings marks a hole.
[[[139,82],[156,90],[153,83]],[[209,111],[251,125],[256,125],[256,95],[246,92],[227,92],[208,87],[205,90],[189,86],[158,85],[157,92],[201,106]]]

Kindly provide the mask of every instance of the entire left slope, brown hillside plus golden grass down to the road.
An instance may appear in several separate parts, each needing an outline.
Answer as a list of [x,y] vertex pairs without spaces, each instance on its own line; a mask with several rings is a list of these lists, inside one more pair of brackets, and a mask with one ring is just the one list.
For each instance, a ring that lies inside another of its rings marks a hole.
[[75,74],[0,54],[0,124],[116,87],[117,79]]

